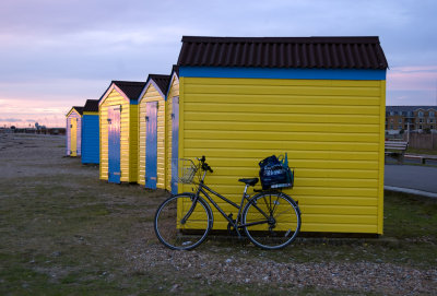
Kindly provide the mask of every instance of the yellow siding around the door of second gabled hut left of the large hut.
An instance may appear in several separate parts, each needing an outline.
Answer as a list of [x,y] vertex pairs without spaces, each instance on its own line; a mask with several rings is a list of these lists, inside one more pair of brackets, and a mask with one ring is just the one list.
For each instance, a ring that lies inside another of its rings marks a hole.
[[165,98],[151,83],[140,102],[139,127],[139,183],[145,185],[145,137],[146,137],[146,103],[158,102],[157,107],[157,159],[156,159],[156,188],[165,189],[166,185],[166,153],[165,153]]

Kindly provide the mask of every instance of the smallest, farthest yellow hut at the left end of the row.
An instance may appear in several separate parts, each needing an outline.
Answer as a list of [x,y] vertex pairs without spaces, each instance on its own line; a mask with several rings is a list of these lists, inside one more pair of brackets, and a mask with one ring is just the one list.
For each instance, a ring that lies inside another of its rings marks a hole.
[[83,107],[74,106],[67,117],[67,155],[81,156]]

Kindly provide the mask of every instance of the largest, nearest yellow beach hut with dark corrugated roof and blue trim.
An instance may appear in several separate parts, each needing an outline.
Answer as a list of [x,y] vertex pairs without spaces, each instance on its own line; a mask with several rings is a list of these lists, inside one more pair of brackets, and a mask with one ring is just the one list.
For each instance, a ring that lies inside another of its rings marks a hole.
[[212,188],[237,201],[239,177],[287,153],[295,185],[284,192],[299,203],[302,232],[382,234],[378,37],[182,37],[178,66],[178,157],[205,155]]

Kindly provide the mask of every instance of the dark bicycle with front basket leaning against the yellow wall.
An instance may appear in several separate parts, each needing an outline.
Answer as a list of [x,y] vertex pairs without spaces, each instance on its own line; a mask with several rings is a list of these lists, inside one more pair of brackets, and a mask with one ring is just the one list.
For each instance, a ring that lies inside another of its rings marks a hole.
[[[277,190],[258,190],[257,194],[250,197],[247,189],[253,187],[259,179],[243,178],[238,181],[246,186],[238,205],[204,183],[206,171],[213,173],[205,162],[205,156],[198,158],[198,165],[190,159],[185,161],[191,164],[188,168],[184,168],[179,182],[191,182],[198,187],[196,193],[184,192],[172,196],[157,209],[154,228],[157,238],[166,247],[174,250],[190,250],[205,240],[212,229],[214,216],[210,204],[200,193],[226,218],[227,229],[236,232],[238,238],[243,237],[244,230],[251,242],[269,250],[284,248],[295,240],[302,221],[297,202],[291,197]],[[203,174],[199,174],[199,181],[196,182],[193,177],[199,169]],[[209,193],[236,208],[238,210],[236,218],[233,218],[232,213],[227,215]]]

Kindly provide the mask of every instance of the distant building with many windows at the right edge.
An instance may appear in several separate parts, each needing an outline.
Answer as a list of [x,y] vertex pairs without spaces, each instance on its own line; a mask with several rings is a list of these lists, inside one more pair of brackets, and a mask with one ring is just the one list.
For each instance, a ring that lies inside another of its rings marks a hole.
[[387,106],[386,133],[398,134],[401,131],[437,132],[437,106]]

